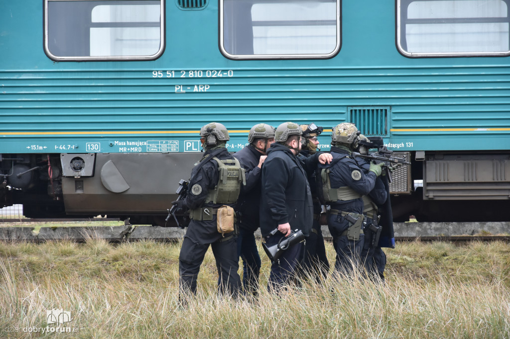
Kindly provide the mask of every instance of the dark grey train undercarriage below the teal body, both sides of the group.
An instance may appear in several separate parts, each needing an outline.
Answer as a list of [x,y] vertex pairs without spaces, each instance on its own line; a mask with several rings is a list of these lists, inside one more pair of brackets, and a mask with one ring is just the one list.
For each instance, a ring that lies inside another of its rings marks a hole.
[[[397,154],[397,152],[395,152]],[[200,153],[3,154],[0,207],[23,205],[27,218],[130,218],[165,221],[180,179]],[[395,221],[510,221],[510,154],[408,152],[394,173]],[[399,172],[400,171],[400,172]]]

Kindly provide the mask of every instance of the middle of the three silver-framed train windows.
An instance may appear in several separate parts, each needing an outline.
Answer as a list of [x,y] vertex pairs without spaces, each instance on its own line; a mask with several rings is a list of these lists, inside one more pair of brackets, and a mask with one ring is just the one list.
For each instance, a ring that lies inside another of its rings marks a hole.
[[220,48],[231,59],[331,58],[340,0],[220,0]]

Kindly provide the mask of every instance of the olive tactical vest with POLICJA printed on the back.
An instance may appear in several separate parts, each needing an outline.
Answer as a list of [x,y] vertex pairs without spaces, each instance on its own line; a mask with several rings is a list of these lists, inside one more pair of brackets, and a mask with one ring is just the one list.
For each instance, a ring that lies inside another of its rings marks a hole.
[[213,157],[213,160],[218,163],[218,184],[214,189],[209,190],[206,202],[213,204],[234,204],[237,202],[241,184],[246,185],[246,177],[244,168],[241,167],[239,160],[223,159]]

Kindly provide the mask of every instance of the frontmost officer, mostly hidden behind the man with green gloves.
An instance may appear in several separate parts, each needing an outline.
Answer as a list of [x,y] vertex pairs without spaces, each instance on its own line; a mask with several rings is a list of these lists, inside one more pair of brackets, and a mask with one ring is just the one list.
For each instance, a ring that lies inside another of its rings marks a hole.
[[[358,147],[359,153],[367,155],[370,147],[370,140],[366,136],[360,135],[360,145]],[[355,160],[358,164],[360,164],[363,173],[367,175],[370,171],[370,160],[362,157],[356,157]],[[385,174],[386,172],[383,172],[379,177],[377,177],[374,188],[370,191],[370,193],[363,195],[363,214],[365,216],[363,229],[365,239],[363,249],[361,251],[361,260],[364,263],[369,277],[374,280],[377,280],[377,277],[379,277],[377,265],[374,263],[374,255],[380,256],[380,252],[376,251],[378,243],[375,243],[376,239],[380,237],[380,233],[382,231],[379,209],[383,210],[383,208],[380,207],[384,206],[386,201],[389,199],[389,191],[387,191],[387,187],[383,181],[384,179],[388,181]],[[378,248],[380,249],[380,247]],[[384,252],[382,253],[384,255]],[[384,271],[384,268],[382,268],[382,271]]]

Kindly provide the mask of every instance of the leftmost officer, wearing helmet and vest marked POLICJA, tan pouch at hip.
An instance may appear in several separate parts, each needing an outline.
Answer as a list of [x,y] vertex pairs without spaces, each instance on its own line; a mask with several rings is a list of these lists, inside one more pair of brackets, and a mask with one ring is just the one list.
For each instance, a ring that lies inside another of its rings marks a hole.
[[[218,269],[219,292],[236,297],[241,288],[237,273],[237,239],[233,228],[230,230],[217,220],[218,214],[230,213],[233,226],[232,208],[245,184],[244,169],[225,148],[229,139],[222,124],[210,123],[200,129],[205,153],[191,171],[186,198],[172,202],[183,210],[189,209],[191,218],[179,255],[179,287],[183,303],[186,303],[186,297],[196,294],[198,271],[210,245]],[[225,217],[220,221],[223,220],[229,219]]]

